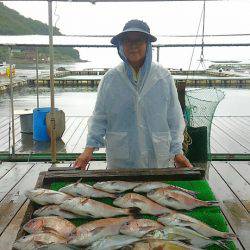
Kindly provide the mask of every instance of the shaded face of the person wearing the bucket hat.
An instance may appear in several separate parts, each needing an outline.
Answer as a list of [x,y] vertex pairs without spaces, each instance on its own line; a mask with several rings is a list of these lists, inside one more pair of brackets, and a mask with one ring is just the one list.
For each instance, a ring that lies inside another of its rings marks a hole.
[[140,32],[128,32],[122,39],[123,50],[129,63],[142,65],[146,56],[147,38]]

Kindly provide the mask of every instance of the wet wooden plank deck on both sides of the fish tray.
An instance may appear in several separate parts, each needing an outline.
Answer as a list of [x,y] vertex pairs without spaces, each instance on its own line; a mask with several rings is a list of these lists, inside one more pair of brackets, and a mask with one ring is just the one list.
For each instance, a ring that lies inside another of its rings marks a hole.
[[[72,162],[57,164],[68,167]],[[0,164],[0,249],[9,250],[18,233],[28,201],[25,191],[35,186],[39,172],[49,163]],[[89,169],[105,169],[105,162],[91,162]],[[212,162],[207,179],[230,231],[238,235],[238,249],[250,249],[250,162]]]

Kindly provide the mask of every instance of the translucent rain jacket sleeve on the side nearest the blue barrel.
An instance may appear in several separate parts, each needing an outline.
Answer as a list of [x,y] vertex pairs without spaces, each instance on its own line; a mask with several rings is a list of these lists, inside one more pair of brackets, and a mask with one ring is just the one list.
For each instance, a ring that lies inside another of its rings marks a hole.
[[105,113],[105,76],[99,83],[95,108],[88,120],[88,135],[86,147],[99,149],[105,146],[104,136],[107,128],[107,117]]

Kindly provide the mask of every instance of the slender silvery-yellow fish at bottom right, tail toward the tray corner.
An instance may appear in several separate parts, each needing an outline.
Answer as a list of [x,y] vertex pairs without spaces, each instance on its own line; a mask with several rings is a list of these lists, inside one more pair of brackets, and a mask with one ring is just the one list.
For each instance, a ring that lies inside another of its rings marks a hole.
[[185,228],[185,227],[165,227],[161,230],[154,230],[147,233],[145,238],[153,239],[162,239],[162,240],[177,240],[183,241],[195,247],[207,247],[210,245],[218,245],[223,248],[227,248],[225,243],[222,241],[215,241],[208,237],[203,236],[202,234],[197,233],[196,231]]

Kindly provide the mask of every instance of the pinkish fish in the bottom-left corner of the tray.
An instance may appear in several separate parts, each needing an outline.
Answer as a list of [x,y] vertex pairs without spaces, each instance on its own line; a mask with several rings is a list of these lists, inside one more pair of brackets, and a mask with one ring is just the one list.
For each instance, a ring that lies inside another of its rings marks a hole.
[[43,245],[66,243],[67,240],[59,235],[38,233],[21,237],[13,244],[13,248],[17,250],[35,250]]

